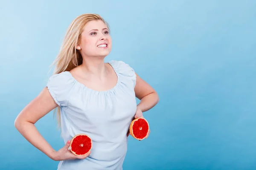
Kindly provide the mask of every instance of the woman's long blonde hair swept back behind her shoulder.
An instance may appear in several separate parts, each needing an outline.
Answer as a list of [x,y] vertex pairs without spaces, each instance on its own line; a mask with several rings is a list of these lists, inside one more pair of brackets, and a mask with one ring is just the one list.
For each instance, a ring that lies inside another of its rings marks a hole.
[[[108,26],[108,23],[99,14],[82,14],[72,21],[72,23],[67,29],[60,51],[55,61],[52,63],[52,65],[55,65],[53,74],[59,74],[64,71],[70,71],[73,68],[76,68],[77,66],[82,64],[82,56],[79,50],[76,50],[76,47],[81,41],[81,33],[83,31],[84,26],[89,21],[93,20],[101,20]],[[60,126],[60,107],[58,106],[56,109],[58,116],[58,125]]]

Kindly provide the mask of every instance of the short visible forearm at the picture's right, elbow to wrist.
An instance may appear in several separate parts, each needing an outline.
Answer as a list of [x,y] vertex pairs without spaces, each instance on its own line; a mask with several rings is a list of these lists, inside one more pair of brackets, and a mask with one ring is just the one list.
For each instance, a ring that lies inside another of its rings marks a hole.
[[159,96],[157,93],[151,93],[147,96],[144,96],[140,103],[137,105],[137,108],[139,108],[142,112],[148,111],[149,109],[153,108],[155,105],[157,105],[159,101]]

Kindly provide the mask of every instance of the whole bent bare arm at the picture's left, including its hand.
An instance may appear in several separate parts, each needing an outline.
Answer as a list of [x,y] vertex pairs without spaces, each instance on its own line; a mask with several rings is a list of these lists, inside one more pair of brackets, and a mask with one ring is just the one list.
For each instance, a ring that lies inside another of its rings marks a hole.
[[57,106],[48,89],[44,88],[41,93],[19,113],[15,119],[15,127],[33,146],[55,161],[86,158],[90,152],[85,156],[76,156],[68,150],[70,141],[67,141],[65,146],[60,150],[55,151],[36,129],[34,124]]

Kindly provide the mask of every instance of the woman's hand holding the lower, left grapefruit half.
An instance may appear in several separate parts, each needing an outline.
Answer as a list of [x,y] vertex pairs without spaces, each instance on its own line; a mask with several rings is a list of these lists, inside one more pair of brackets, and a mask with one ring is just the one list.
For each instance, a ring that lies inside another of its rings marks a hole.
[[76,156],[68,149],[69,147],[70,147],[70,141],[67,141],[64,147],[62,147],[60,150],[55,152],[55,155],[53,156],[53,160],[62,161],[62,160],[68,160],[68,159],[85,159],[91,153],[90,151],[84,156]]

